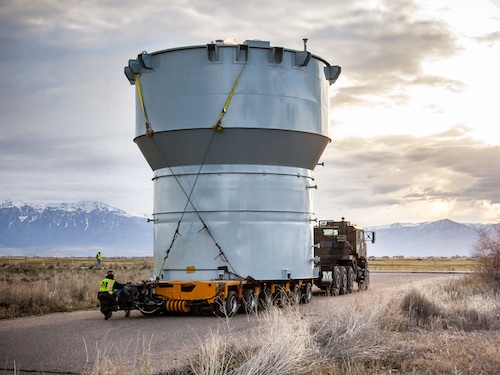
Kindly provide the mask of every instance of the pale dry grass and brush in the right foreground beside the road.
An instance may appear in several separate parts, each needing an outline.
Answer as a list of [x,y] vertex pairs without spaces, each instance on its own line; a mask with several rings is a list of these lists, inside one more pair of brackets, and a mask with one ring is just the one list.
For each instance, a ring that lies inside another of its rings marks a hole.
[[244,340],[212,332],[184,367],[163,374],[496,374],[498,294],[470,276],[444,280],[314,310],[273,308]]

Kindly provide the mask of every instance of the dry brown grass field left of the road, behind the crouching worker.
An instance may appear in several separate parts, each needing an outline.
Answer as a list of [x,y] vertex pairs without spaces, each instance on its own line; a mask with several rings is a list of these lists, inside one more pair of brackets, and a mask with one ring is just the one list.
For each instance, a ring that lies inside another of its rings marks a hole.
[[[107,268],[96,269],[92,259],[18,258],[0,260],[0,319],[98,306],[99,281]],[[149,259],[130,264],[109,261],[117,280],[139,281],[149,277]],[[76,264],[76,266],[75,266]]]

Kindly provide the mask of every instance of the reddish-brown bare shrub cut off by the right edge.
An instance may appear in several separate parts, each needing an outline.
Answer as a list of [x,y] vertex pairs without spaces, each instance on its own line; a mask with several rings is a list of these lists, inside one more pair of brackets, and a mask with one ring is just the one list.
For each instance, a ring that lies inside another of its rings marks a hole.
[[500,289],[500,227],[492,234],[480,231],[472,255],[477,259],[476,275]]

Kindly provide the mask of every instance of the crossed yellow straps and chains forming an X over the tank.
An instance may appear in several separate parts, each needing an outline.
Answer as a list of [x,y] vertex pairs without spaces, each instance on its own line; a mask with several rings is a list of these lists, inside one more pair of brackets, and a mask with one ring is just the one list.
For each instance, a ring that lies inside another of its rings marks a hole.
[[[213,236],[212,232],[210,231],[210,229],[208,228],[207,224],[205,223],[205,221],[203,220],[203,218],[200,216],[200,213],[198,212],[198,210],[196,209],[196,207],[194,206],[193,202],[191,201],[191,196],[193,194],[193,191],[196,187],[196,183],[198,182],[198,177],[200,176],[201,174],[201,169],[203,168],[203,165],[205,164],[205,160],[207,158],[207,155],[208,155],[208,152],[210,151],[210,148],[212,147],[212,143],[213,143],[213,139],[214,139],[214,136],[215,136],[215,132],[221,132],[222,131],[222,118],[225,116],[226,112],[227,112],[227,109],[229,107],[229,104],[231,103],[231,99],[233,98],[233,95],[234,95],[234,92],[236,90],[236,87],[238,86],[238,83],[240,81],[240,78],[241,78],[241,75],[243,74],[243,71],[245,70],[245,67],[246,67],[247,63],[245,62],[245,64],[243,65],[243,67],[241,68],[240,70],[240,73],[238,74],[238,77],[236,78],[236,81],[234,82],[233,84],[233,87],[229,93],[229,96],[228,98],[226,99],[226,102],[224,103],[224,106],[222,107],[222,111],[219,115],[219,118],[217,119],[217,122],[215,125],[212,126],[212,129],[214,130],[214,132],[212,133],[212,136],[210,137],[210,142],[208,144],[208,147],[207,147],[207,150],[205,152],[205,155],[203,156],[203,160],[201,162],[201,165],[200,165],[200,168],[198,170],[198,173],[196,174],[196,178],[195,178],[195,181],[194,181],[194,184],[191,188],[191,191],[189,192],[189,194],[187,194],[186,190],[182,187],[180,181],[178,180],[177,176],[175,175],[175,173],[173,172],[172,168],[169,166],[168,168],[170,169],[170,172],[172,173],[172,176],[174,176],[175,180],[177,181],[177,184],[179,185],[179,187],[181,188],[181,190],[183,191],[184,195],[186,196],[187,198],[187,201],[186,201],[186,205],[184,206],[184,211],[182,212],[182,215],[179,219],[179,221],[177,222],[177,228],[175,229],[175,233],[174,235],[172,236],[172,241],[170,242],[170,246],[168,247],[167,251],[165,252],[165,257],[163,258],[163,264],[161,266],[161,269],[163,269],[163,267],[165,266],[165,262],[167,261],[167,258],[170,254],[170,251],[172,250],[173,246],[174,246],[174,243],[175,243],[175,240],[181,236],[180,232],[179,232],[179,228],[180,228],[180,225],[181,225],[181,222],[182,222],[182,219],[184,218],[184,214],[186,213],[187,211],[187,207],[189,204],[191,204],[191,206],[193,207],[194,211],[196,212],[196,215],[198,216],[198,218],[200,219],[201,223],[203,224],[203,228],[200,229],[203,230],[205,229],[208,233],[208,235],[212,238],[212,240],[214,241],[215,243],[215,246],[219,249],[219,255],[217,255],[216,258],[218,257],[221,257],[221,259],[226,262],[230,267],[231,269],[233,270],[233,274],[237,277],[240,277],[238,274],[234,273],[234,268],[233,266],[231,265],[231,263],[229,262],[229,259],[227,259],[226,255],[224,254],[224,252],[222,251],[222,248],[220,247],[219,243],[217,242],[217,240],[215,239],[215,237]],[[136,82],[138,82],[138,79],[136,79]],[[140,92],[140,88],[138,88],[138,92]],[[139,99],[141,101],[141,105],[142,105],[142,108],[143,108],[143,113],[144,113],[144,121],[146,123],[146,135],[148,135],[147,133],[147,130],[149,129],[151,131],[151,134],[149,134],[149,136],[152,136],[153,135],[153,131],[151,130],[151,128],[149,127],[149,122],[147,121],[147,117],[146,117],[146,110],[144,108],[144,104],[143,104],[143,101],[142,101],[142,95],[139,95]],[[160,155],[162,155],[162,158],[164,159],[165,161],[165,164],[168,165],[168,163],[166,162],[165,158],[163,157],[163,154],[160,152],[160,149],[158,147],[158,145],[156,144],[156,142],[154,141],[154,138],[153,138],[153,143],[155,144],[158,152],[160,153]]]

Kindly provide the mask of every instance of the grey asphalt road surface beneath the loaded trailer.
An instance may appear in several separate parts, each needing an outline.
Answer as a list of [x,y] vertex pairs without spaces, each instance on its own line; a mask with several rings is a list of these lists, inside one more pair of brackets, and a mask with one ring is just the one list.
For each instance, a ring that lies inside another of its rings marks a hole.
[[[380,293],[419,279],[442,276],[372,272],[370,289],[365,293]],[[354,297],[355,293],[335,298],[341,301]],[[315,296],[311,304],[324,298]],[[301,308],[307,309],[308,305]],[[245,335],[254,326],[255,318],[239,314],[228,323],[217,317],[143,316],[139,311],[125,318],[120,311],[106,321],[99,310],[90,310],[1,320],[0,373],[81,374],[105,357],[127,368],[137,363],[143,350],[152,353],[153,367],[160,372],[179,364],[210,330],[227,329],[228,324],[232,332]]]

